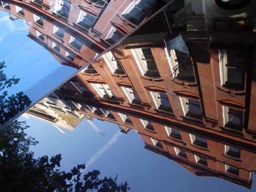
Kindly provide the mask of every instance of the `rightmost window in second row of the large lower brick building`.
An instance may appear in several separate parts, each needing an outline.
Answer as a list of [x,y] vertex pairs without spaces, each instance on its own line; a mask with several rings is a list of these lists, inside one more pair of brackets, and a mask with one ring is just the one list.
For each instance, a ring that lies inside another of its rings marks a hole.
[[222,106],[224,127],[232,131],[242,131],[243,111]]

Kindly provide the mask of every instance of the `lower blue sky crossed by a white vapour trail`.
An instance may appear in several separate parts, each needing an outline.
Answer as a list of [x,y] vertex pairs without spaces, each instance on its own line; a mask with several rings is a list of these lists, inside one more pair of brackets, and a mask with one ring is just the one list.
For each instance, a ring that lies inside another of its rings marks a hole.
[[[144,149],[140,135],[131,130],[120,133],[117,125],[93,119],[106,136],[97,134],[84,119],[74,131],[58,129],[47,122],[30,117],[27,133],[40,143],[31,148],[35,156],[61,153],[61,169],[68,171],[77,163],[86,163],[85,172],[99,169],[102,176],[118,175],[118,181],[128,180],[131,192],[249,192],[252,190],[212,177],[195,177],[186,169],[159,154]],[[39,126],[38,126],[39,125]],[[255,174],[253,180],[256,180]]]

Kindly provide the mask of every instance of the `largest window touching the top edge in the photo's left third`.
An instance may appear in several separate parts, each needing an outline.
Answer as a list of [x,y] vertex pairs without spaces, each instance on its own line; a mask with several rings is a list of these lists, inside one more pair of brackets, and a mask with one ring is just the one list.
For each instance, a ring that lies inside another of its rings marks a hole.
[[55,6],[52,12],[64,19],[67,19],[69,16],[70,7],[70,2],[66,0],[55,0]]

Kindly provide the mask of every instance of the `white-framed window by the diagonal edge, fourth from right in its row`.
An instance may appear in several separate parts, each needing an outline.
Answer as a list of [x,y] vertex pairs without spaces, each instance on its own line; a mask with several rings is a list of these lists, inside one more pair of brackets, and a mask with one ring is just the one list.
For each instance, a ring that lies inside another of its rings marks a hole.
[[120,62],[116,60],[116,58],[114,57],[111,51],[105,53],[102,57],[104,58],[105,62],[107,63],[112,73],[116,73],[120,75],[125,74]]

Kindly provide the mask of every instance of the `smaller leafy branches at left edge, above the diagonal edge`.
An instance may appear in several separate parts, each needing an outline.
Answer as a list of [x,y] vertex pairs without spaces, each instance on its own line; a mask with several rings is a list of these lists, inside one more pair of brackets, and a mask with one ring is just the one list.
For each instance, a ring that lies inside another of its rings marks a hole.
[[27,95],[24,95],[22,91],[8,96],[6,88],[12,87],[13,84],[17,84],[20,79],[13,76],[11,79],[7,79],[6,74],[3,72],[5,68],[5,62],[0,62],[0,125],[10,120],[12,117],[29,107],[31,100]]

